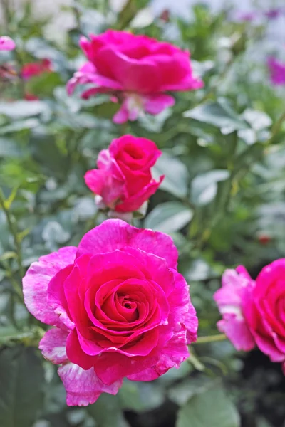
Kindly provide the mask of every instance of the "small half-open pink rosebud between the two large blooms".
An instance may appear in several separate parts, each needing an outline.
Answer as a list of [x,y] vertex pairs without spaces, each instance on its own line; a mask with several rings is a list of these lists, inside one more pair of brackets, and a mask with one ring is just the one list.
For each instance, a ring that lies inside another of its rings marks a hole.
[[99,153],[98,169],[85,176],[90,190],[99,196],[99,206],[122,213],[138,211],[164,178],[160,176],[157,182],[150,172],[160,154],[150,139],[132,135],[113,139],[110,147]]

